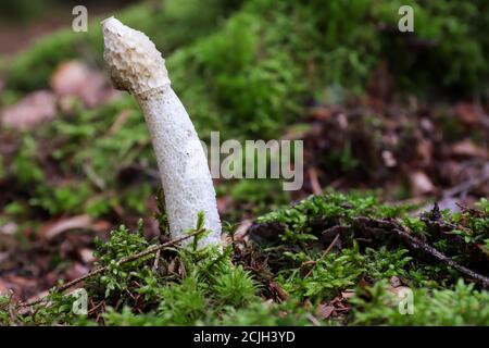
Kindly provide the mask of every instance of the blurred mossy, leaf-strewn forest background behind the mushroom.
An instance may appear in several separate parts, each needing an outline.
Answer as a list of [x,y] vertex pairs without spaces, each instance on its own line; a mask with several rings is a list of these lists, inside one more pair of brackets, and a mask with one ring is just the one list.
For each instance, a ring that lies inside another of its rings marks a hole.
[[419,209],[489,196],[487,1],[84,1],[87,33],[76,4],[0,3],[0,291],[86,273],[93,235],[120,224],[159,234],[149,134],[103,70],[110,15],[156,44],[202,139],[304,140],[299,191],[215,182],[233,226],[327,190]]

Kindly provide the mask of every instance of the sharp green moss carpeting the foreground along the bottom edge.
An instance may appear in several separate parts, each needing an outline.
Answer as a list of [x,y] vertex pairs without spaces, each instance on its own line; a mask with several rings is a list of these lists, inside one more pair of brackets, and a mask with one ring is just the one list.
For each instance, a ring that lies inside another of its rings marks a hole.
[[[481,200],[479,209],[486,209],[485,204]],[[250,253],[254,265],[251,269],[247,258],[242,259],[250,252],[247,249],[250,246],[233,244],[224,251],[216,247],[198,249],[198,238],[185,248],[162,251],[156,268],[154,254],[121,264],[121,259],[154,245],[142,236],[142,224],[136,233],[121,226],[106,243],[97,241],[99,265],[109,270],[91,277],[86,285],[92,303],[104,303],[104,311],[91,316],[75,315],[72,311],[75,298],[52,291],[50,306],[39,306],[32,315],[14,311],[13,319],[10,299],[0,298],[0,322],[92,325],[101,324],[103,318],[105,325],[309,325],[318,304],[356,288],[355,296],[346,303],[350,309],[348,315],[321,324],[487,325],[487,290],[456,282],[460,274],[453,270],[415,258],[386,237],[380,247],[368,244],[365,247],[361,240],[349,241],[347,234],[341,236],[340,248],[325,251],[314,231],[313,222],[318,217],[344,227],[359,216],[402,217],[403,211],[406,208],[378,204],[372,196],[331,192],[311,197],[260,219],[262,223],[279,221],[296,236],[279,238],[272,247],[254,246]],[[484,213],[485,210],[468,210],[462,216],[480,219]],[[419,236],[431,240],[432,232],[424,219],[435,217],[452,219],[432,210],[414,224],[404,221],[423,229]],[[202,225],[200,214],[196,229]],[[262,258],[267,260],[263,264]],[[400,298],[393,291],[401,288],[394,289],[387,282],[393,278],[408,284],[413,291],[414,314],[402,314],[399,310]],[[262,297],[269,296],[266,294],[272,279],[288,295],[287,300],[263,302]]]

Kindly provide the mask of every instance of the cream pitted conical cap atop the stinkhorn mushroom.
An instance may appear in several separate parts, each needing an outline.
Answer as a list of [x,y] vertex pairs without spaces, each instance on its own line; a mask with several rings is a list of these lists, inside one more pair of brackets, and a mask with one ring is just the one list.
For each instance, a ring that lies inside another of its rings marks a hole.
[[115,88],[142,95],[170,86],[165,60],[148,36],[113,16],[101,23],[103,59]]

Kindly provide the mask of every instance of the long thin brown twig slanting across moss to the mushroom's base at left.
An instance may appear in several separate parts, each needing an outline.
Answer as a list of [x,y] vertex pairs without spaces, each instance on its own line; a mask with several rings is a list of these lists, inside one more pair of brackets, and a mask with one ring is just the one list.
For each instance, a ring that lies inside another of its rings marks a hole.
[[[195,236],[197,236],[197,235],[203,233],[204,231],[205,231],[204,228],[200,228],[200,229],[198,229],[198,231],[196,231],[196,232],[193,232],[193,233],[191,233],[191,234],[189,234],[189,235],[185,235],[185,236],[181,236],[181,237],[179,237],[179,238],[176,238],[176,239],[166,241],[166,243],[164,243],[164,244],[161,244],[161,245],[158,245],[158,246],[150,247],[150,248],[148,248],[148,249],[146,249],[146,250],[143,250],[143,251],[136,252],[136,253],[130,254],[130,256],[128,256],[128,257],[122,258],[121,260],[117,261],[116,264],[117,264],[117,265],[121,265],[121,264],[124,264],[124,263],[127,263],[127,262],[130,262],[130,261],[135,261],[135,260],[140,259],[140,258],[143,258],[143,257],[146,257],[146,256],[148,256],[148,254],[158,252],[158,251],[160,251],[160,250],[162,250],[162,249],[164,249],[164,248],[167,248],[167,247],[170,247],[170,246],[173,246],[173,245],[175,245],[175,244],[177,244],[177,243],[180,243],[180,241],[183,241],[183,240],[185,240],[185,239],[195,237]],[[87,279],[87,278],[89,278],[89,277],[92,277],[93,275],[97,275],[97,274],[100,274],[100,273],[102,273],[102,272],[105,272],[105,271],[108,271],[108,270],[109,270],[109,266],[108,266],[108,265],[98,268],[98,269],[91,271],[90,273],[87,273],[87,274],[85,274],[85,275],[83,275],[83,276],[80,276],[80,277],[77,277],[76,279],[73,279],[73,281],[71,281],[71,282],[68,282],[68,283],[66,283],[66,284],[63,284],[63,285],[58,286],[58,287],[55,288],[55,290],[57,290],[58,293],[63,293],[64,290],[71,288],[72,286],[74,286],[74,285],[76,285],[76,284],[78,284],[78,283],[80,283],[80,282],[83,282],[83,281],[85,281],[85,279]],[[20,306],[20,307],[30,307],[30,306],[34,306],[34,304],[43,302],[43,301],[46,300],[46,298],[47,298],[47,296],[43,296],[43,297],[41,297],[41,298],[32,300],[32,301],[22,302],[22,303],[20,303],[18,306]]]

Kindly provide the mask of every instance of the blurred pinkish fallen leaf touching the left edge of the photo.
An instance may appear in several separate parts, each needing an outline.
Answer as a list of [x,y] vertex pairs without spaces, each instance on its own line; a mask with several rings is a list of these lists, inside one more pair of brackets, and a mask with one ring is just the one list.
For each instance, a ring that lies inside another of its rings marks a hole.
[[4,126],[17,129],[28,129],[50,121],[55,114],[55,97],[47,90],[32,92],[16,104],[4,109],[0,115]]

